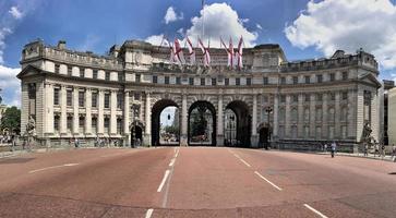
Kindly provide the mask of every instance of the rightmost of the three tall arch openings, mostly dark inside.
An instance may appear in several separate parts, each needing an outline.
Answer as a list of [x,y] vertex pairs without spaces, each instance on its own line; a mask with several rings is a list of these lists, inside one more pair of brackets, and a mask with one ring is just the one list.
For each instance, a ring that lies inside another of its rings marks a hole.
[[250,147],[252,117],[249,113],[248,105],[241,100],[231,101],[227,105],[225,114],[226,145],[235,147]]

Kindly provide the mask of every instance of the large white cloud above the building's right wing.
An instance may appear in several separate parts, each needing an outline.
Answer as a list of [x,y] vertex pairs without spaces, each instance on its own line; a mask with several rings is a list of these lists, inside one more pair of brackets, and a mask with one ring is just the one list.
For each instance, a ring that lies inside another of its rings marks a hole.
[[372,52],[384,69],[396,68],[396,7],[389,0],[311,0],[286,26],[289,41],[315,47],[325,56],[337,49]]

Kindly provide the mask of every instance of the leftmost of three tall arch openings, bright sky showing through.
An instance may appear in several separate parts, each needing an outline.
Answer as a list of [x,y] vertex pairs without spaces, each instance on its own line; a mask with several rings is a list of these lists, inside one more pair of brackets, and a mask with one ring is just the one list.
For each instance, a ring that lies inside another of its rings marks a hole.
[[169,99],[157,101],[152,109],[152,144],[176,146],[180,142],[178,105]]

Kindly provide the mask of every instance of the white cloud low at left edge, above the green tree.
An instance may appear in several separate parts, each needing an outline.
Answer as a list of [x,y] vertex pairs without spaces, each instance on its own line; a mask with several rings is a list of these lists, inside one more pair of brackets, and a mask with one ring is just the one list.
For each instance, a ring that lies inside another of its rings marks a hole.
[[21,69],[12,69],[0,65],[0,88],[3,102],[10,106],[21,106],[21,82],[16,74]]

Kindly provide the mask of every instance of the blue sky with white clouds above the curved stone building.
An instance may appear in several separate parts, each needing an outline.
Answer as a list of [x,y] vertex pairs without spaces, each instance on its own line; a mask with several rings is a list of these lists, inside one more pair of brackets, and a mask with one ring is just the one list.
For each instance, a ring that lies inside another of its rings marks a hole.
[[[7,0],[0,1],[0,88],[7,105],[20,105],[19,61],[25,44],[41,38],[104,55],[127,39],[159,44],[201,34],[202,0]],[[375,55],[381,78],[396,80],[395,0],[205,1],[205,36],[239,36],[245,46],[279,44],[288,60],[328,57],[335,50]]]

